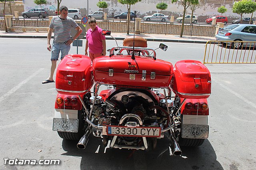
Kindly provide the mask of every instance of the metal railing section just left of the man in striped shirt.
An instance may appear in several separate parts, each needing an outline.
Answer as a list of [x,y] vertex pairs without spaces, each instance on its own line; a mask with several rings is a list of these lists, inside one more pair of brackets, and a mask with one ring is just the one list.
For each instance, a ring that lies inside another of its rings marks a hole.
[[12,26],[22,27],[48,27],[49,19],[43,18],[11,18]]

